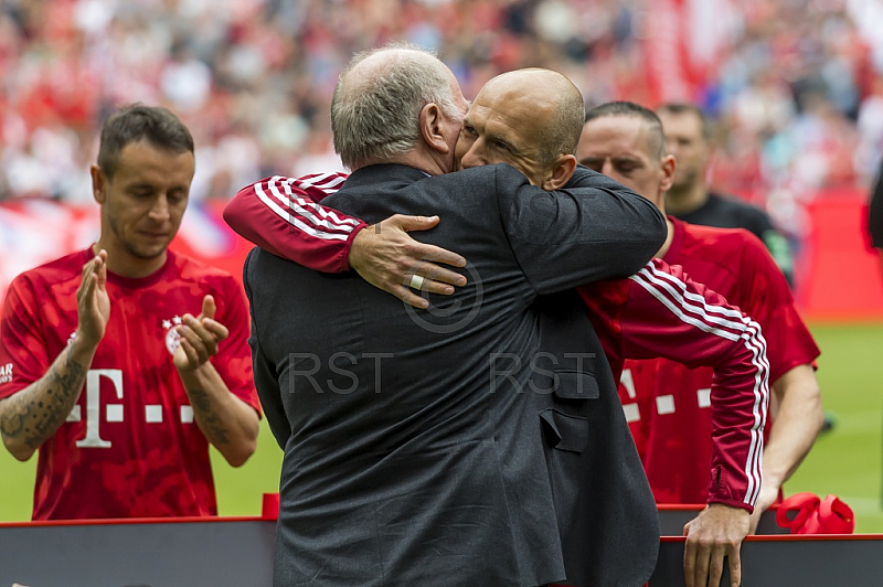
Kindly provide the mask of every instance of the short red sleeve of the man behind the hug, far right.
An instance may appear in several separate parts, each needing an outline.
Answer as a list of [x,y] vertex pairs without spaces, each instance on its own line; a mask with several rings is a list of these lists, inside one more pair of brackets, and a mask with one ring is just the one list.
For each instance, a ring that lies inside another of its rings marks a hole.
[[769,381],[775,383],[791,369],[811,364],[820,351],[797,311],[788,282],[763,244],[747,234],[741,254],[738,279],[751,284],[741,309],[763,328],[769,344]]

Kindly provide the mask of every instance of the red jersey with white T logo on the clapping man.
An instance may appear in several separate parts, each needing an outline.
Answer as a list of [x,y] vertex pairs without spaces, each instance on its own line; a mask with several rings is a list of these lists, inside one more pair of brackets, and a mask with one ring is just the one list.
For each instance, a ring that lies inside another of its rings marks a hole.
[[[168,252],[132,279],[108,271],[110,318],[67,420],[39,449],[34,520],[216,515],[209,444],[172,363],[184,313],[214,296],[230,329],[211,359],[230,391],[258,409],[245,296],[232,276]],[[76,331],[81,250],[18,276],[0,324],[0,398],[38,381]]]

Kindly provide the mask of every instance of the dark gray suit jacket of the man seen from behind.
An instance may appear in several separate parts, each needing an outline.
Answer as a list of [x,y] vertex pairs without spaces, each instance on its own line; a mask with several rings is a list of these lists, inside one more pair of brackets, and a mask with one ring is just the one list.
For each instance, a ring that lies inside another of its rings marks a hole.
[[275,585],[649,576],[652,495],[600,344],[564,291],[635,273],[664,220],[579,173],[592,188],[550,194],[509,166],[353,172],[325,204],[370,223],[438,214],[422,239],[469,260],[469,284],[430,311],[354,274],[248,256],[255,382],[285,450]]

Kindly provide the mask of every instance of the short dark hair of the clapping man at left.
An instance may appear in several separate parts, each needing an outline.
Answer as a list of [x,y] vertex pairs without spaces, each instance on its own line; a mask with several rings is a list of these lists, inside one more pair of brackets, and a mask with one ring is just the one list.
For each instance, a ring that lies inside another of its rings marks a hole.
[[129,104],[114,113],[102,127],[98,148],[102,172],[113,178],[123,148],[140,140],[174,153],[193,152],[193,137],[174,113],[162,106]]

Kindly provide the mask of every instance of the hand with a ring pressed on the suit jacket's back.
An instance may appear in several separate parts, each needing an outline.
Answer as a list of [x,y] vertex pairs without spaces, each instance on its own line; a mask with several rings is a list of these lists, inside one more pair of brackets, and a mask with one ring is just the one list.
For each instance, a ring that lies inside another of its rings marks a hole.
[[[368,226],[355,235],[350,249],[350,267],[365,281],[414,306],[427,308],[421,291],[450,296],[451,286],[465,286],[466,277],[433,262],[465,267],[466,259],[435,245],[413,239],[411,231],[428,231],[438,224],[438,216],[395,214]],[[415,276],[416,279],[415,279]],[[421,279],[422,278],[422,279]]]

